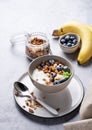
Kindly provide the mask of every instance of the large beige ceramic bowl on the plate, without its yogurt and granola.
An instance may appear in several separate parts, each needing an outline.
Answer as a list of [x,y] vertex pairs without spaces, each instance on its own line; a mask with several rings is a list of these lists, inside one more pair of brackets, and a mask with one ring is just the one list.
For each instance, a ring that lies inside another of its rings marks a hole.
[[[41,83],[35,81],[32,76],[34,70],[42,61],[47,61],[49,59],[54,59],[56,61],[60,61],[62,64],[68,66],[70,68],[71,76],[66,81],[64,81],[60,84],[52,85],[52,86],[44,85],[44,84],[41,84]],[[34,86],[36,88],[38,88],[41,91],[47,92],[47,93],[56,93],[56,92],[63,90],[65,87],[67,87],[67,85],[69,84],[69,82],[71,81],[71,79],[74,75],[74,69],[73,69],[72,64],[63,57],[56,56],[56,55],[45,55],[45,56],[36,58],[35,60],[33,60],[30,63],[29,68],[28,68],[28,74],[29,74],[29,77],[30,77],[32,83],[34,84]]]

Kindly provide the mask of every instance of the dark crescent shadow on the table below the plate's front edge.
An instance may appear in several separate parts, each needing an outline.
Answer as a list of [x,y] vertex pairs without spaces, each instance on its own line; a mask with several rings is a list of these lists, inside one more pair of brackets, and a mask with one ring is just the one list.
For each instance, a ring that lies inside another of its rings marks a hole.
[[79,112],[80,105],[74,111],[68,113],[67,115],[64,115],[61,117],[54,117],[54,118],[43,118],[43,117],[35,116],[33,114],[29,115],[29,113],[24,111],[17,103],[16,103],[16,107],[21,113],[23,113],[25,118],[28,118],[40,124],[55,125],[55,124],[65,123],[69,121],[70,119],[72,119],[74,116],[76,116]]

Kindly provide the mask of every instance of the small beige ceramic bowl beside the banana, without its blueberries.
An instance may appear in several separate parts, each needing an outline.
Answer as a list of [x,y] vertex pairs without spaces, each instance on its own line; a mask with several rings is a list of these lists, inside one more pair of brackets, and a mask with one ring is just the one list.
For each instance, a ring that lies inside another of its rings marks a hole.
[[[77,43],[74,45],[74,46],[65,46],[63,45],[60,41],[61,39],[63,39],[66,35],[72,35],[72,36],[75,36],[76,39],[77,39]],[[75,34],[75,33],[67,33],[65,35],[62,35],[60,36],[59,38],[59,45],[60,45],[60,48],[63,50],[63,52],[65,53],[74,53],[79,47],[80,47],[80,36],[78,34]]]

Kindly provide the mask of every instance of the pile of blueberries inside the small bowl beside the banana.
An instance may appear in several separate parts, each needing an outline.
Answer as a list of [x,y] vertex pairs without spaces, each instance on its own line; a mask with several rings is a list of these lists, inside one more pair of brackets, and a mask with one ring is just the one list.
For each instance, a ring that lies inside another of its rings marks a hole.
[[77,44],[78,40],[75,35],[67,34],[60,39],[60,43],[64,46],[73,47]]

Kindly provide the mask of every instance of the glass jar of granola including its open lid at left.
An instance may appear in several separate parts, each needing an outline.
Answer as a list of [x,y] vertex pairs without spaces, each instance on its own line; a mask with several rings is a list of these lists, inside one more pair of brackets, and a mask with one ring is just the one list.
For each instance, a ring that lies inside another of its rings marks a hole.
[[10,42],[13,46],[17,43],[25,43],[25,54],[31,60],[51,54],[49,40],[46,34],[41,32],[17,34],[10,39]]

